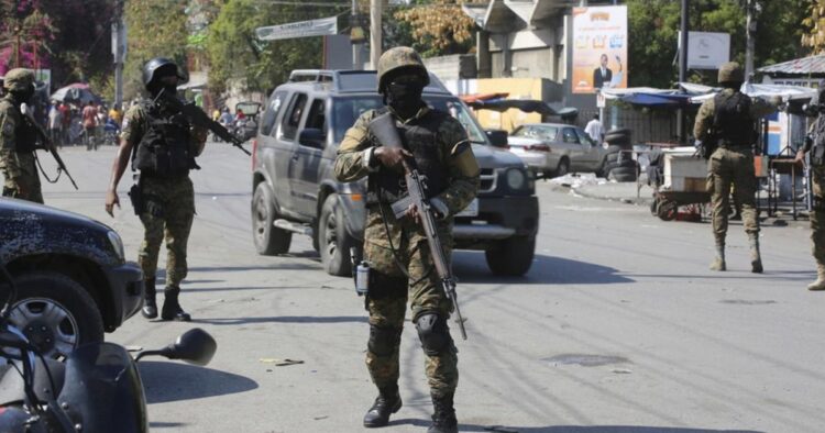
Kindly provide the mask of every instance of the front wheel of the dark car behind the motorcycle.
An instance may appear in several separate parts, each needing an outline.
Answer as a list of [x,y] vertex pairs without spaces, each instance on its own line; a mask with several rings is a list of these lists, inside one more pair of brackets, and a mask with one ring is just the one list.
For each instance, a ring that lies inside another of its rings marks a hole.
[[62,359],[82,344],[103,341],[103,319],[80,284],[52,271],[24,274],[14,281],[11,322],[43,356]]

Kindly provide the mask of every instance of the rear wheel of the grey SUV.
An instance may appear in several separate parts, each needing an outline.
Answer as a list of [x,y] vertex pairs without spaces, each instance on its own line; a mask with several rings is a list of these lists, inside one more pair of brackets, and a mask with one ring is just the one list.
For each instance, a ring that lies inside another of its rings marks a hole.
[[270,188],[265,182],[257,184],[252,196],[252,238],[257,254],[274,256],[289,252],[293,233],[274,226],[277,218]]

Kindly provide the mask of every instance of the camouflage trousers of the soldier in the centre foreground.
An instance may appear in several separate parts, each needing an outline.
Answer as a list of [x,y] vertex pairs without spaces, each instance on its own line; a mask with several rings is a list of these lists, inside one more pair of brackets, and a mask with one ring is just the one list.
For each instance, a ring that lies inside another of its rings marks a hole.
[[[367,295],[371,333],[382,330],[385,332],[383,335],[392,335],[388,338],[392,347],[383,351],[383,354],[374,353],[367,345],[366,368],[378,388],[398,381],[398,351],[407,302],[413,311],[413,323],[422,314],[431,312],[447,320],[452,311],[452,303],[440,285],[420,226],[408,218],[402,222],[395,221],[388,208],[385,208],[385,214],[393,220],[389,223],[389,236],[377,207],[367,212],[364,230],[364,259],[370,264],[373,276],[382,276],[378,280],[373,279],[375,284],[370,287]],[[450,225],[439,227],[448,260],[452,252]],[[397,260],[406,267],[409,278],[393,257],[391,240],[392,247],[397,252]],[[433,396],[454,392],[459,382],[458,349],[451,338],[449,347],[442,353],[425,353],[425,371]]]

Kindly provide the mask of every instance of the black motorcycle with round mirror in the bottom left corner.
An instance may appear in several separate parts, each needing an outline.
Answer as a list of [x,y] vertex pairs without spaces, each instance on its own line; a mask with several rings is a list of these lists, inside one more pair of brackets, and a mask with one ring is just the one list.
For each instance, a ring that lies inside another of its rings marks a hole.
[[217,349],[206,331],[193,329],[175,343],[134,358],[113,343],[80,346],[65,363],[46,358],[9,322],[16,289],[4,266],[0,277],[10,289],[0,311],[0,432],[147,432],[136,363],[161,355],[207,365]]

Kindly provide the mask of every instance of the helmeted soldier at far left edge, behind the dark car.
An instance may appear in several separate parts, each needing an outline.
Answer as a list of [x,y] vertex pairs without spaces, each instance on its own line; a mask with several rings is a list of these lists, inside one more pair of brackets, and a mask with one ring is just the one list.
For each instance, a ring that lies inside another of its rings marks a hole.
[[6,74],[0,100],[0,170],[3,173],[3,197],[43,203],[40,175],[35,165],[36,131],[23,122],[20,104],[34,96],[34,73],[16,68]]

